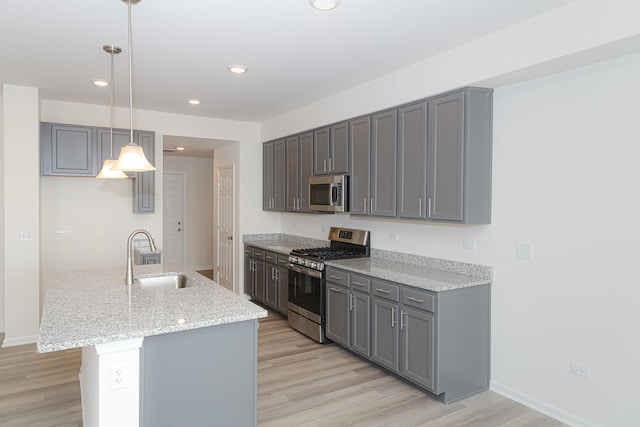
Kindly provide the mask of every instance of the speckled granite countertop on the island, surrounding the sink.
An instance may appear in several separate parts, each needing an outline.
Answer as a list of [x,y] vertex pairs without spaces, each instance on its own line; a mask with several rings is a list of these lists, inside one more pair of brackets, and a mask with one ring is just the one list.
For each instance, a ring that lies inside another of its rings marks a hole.
[[37,351],[204,328],[267,316],[267,311],[180,265],[139,265],[136,277],[180,272],[193,287],[143,291],[124,284],[124,268],[54,273],[40,322]]

